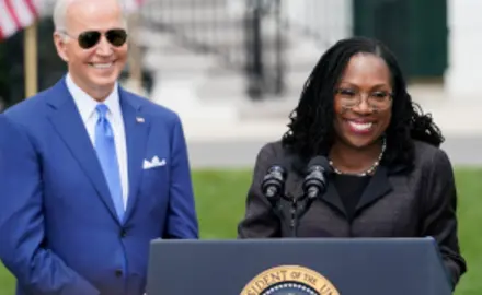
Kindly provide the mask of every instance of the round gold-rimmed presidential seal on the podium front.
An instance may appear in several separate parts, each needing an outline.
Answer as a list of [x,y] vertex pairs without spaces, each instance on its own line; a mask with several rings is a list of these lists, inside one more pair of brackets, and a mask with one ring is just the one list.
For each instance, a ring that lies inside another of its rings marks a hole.
[[340,295],[318,272],[298,266],[268,269],[246,284],[240,295]]

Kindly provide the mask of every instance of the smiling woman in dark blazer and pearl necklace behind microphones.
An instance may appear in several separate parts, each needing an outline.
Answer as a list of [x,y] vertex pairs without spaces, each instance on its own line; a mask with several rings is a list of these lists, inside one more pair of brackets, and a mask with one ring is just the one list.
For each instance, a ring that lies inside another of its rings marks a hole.
[[336,43],[314,67],[288,127],[257,155],[239,238],[289,236],[261,190],[263,177],[285,163],[285,193],[302,196],[308,162],[322,155],[331,166],[326,191],[297,236],[432,236],[457,284],[466,262],[452,167],[438,148],[440,131],[412,102],[389,49],[368,38]]

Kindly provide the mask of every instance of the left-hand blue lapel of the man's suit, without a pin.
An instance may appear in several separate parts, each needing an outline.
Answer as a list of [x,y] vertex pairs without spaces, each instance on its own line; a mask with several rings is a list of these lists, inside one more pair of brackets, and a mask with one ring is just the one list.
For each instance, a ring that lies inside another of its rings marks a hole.
[[54,95],[48,101],[53,107],[49,116],[50,122],[89,177],[113,217],[118,220],[101,164],[65,80],[57,83],[53,91]]

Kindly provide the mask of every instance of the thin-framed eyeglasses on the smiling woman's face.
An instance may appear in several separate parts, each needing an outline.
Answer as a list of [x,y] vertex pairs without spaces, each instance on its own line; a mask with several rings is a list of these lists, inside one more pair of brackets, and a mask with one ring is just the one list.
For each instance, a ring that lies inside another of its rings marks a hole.
[[337,88],[335,90],[335,99],[345,108],[353,108],[362,104],[363,97],[372,109],[385,110],[391,106],[393,94],[388,91],[374,91],[370,93],[363,93],[358,90]]

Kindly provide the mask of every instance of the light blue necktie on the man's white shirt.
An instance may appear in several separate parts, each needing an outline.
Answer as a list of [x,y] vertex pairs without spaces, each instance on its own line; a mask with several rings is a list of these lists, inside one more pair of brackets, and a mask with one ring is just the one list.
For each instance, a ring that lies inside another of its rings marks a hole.
[[102,170],[107,180],[111,198],[114,202],[117,216],[122,222],[124,219],[123,190],[120,185],[120,173],[117,162],[117,153],[115,151],[114,131],[107,120],[108,108],[104,104],[95,107],[99,119],[95,123],[95,151],[101,162]]

